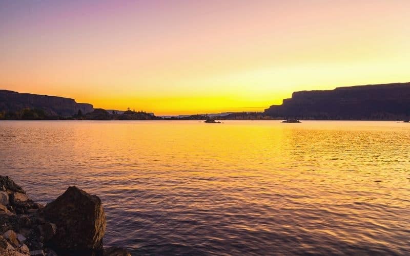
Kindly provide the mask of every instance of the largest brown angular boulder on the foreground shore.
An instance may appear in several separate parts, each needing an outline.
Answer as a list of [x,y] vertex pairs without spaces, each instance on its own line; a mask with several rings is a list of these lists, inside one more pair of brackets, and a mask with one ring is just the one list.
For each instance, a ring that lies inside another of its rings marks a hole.
[[50,245],[58,251],[84,254],[103,250],[106,217],[101,200],[75,186],[44,207],[44,217],[57,225]]

